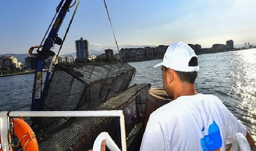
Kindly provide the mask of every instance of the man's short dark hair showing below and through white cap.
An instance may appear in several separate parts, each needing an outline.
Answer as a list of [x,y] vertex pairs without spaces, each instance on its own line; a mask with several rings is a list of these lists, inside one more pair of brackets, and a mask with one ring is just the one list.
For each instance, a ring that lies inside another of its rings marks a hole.
[[[198,59],[197,57],[192,57],[191,60],[189,61],[189,66],[198,66]],[[167,68],[164,66],[165,71],[167,71]],[[176,74],[178,75],[179,79],[181,81],[184,82],[188,82],[193,84],[194,81],[196,81],[196,77],[197,77],[197,72],[193,71],[193,72],[182,72],[182,71],[176,71]]]

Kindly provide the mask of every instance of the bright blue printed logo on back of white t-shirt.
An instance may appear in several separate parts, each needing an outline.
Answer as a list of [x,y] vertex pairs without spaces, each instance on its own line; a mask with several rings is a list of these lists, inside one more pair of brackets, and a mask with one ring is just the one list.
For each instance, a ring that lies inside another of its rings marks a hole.
[[[204,127],[201,132],[204,132]],[[222,146],[222,139],[220,136],[220,129],[216,122],[213,121],[208,128],[208,135],[200,139],[203,151],[220,151]]]

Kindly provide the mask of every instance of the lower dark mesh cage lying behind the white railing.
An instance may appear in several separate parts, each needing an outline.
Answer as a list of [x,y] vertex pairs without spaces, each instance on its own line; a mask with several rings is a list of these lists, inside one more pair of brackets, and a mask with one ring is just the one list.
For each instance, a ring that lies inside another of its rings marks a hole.
[[[89,103],[81,106],[81,110],[118,110],[123,109],[125,116],[125,128],[127,135],[127,148],[137,140],[137,135],[141,134],[141,121],[132,120],[133,115],[140,113],[139,108],[144,102],[142,95],[147,95],[150,84],[134,85],[120,95],[113,97],[105,103],[94,105]],[[143,94],[146,93],[146,94]],[[56,125],[62,125],[60,128]],[[73,150],[88,150],[92,147],[93,141],[100,132],[108,132],[115,143],[120,145],[119,119],[103,117],[73,118],[69,120],[59,120],[53,126],[47,128],[42,134],[37,135],[40,151],[63,151],[69,148]]]

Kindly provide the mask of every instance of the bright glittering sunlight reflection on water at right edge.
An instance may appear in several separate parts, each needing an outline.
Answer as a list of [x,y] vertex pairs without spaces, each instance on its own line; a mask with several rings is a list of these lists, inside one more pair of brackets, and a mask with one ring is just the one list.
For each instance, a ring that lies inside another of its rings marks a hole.
[[236,58],[234,57],[231,62],[236,64],[236,71],[230,73],[236,79],[231,89],[241,98],[237,108],[247,110],[247,113],[243,113],[241,122],[247,125],[250,123],[249,126],[253,129],[251,133],[256,138],[256,49],[236,52]]

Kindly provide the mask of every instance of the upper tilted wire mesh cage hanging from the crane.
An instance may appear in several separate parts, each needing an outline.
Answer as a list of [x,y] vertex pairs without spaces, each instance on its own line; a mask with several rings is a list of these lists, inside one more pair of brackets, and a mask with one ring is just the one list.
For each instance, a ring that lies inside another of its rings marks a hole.
[[[99,105],[125,91],[135,68],[129,64],[57,64],[44,101],[44,111],[82,110],[91,103]],[[32,121],[38,127],[48,127],[60,118],[42,118]]]

